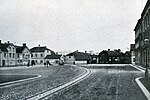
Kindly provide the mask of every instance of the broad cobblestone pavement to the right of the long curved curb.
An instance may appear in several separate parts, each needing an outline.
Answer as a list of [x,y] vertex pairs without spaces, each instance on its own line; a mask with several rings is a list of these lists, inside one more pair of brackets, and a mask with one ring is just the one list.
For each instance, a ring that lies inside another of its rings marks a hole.
[[135,78],[143,77],[144,73],[137,69],[129,65],[87,68],[91,76],[49,96],[48,100],[146,100],[135,82]]

